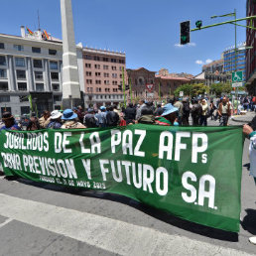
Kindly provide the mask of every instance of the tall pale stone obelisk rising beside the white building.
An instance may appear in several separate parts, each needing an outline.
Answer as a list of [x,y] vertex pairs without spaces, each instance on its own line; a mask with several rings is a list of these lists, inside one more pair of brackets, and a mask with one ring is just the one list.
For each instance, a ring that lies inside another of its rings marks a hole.
[[71,0],[61,0],[63,27],[63,107],[80,104],[80,85],[74,42]]

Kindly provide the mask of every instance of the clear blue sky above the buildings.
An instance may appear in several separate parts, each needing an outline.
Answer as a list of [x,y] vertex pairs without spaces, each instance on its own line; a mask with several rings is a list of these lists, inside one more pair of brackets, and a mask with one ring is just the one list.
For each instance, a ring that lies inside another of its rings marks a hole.
[[[179,48],[180,22],[196,20],[203,25],[232,19],[210,19],[237,9],[246,15],[246,0],[72,0],[76,43],[126,53],[126,66],[144,66],[158,71],[197,74],[201,64],[218,60],[223,50],[234,45],[234,26],[223,25],[192,32],[192,46]],[[20,26],[38,27],[62,38],[60,0],[2,0],[0,33],[20,35]],[[245,29],[237,28],[237,42],[245,41]],[[196,62],[197,61],[197,62]],[[196,63],[197,64],[196,64]]]

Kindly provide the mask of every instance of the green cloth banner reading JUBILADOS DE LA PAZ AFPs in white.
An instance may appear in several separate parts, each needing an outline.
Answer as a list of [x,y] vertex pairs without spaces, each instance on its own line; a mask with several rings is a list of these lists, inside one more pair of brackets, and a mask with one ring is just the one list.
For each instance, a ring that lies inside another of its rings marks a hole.
[[1,131],[7,176],[112,192],[176,216],[238,232],[241,127],[130,125]]

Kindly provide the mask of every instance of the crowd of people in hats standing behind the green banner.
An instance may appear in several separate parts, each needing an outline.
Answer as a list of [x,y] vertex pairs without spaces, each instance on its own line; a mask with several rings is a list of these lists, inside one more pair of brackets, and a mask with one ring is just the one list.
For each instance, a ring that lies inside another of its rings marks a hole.
[[[40,130],[73,129],[126,126],[137,123],[166,126],[207,126],[207,119],[219,121],[220,126],[228,125],[228,119],[242,110],[256,111],[256,97],[242,97],[229,101],[228,97],[217,98],[215,102],[207,98],[174,97],[166,103],[140,100],[138,104],[129,103],[126,108],[116,105],[90,107],[83,110],[81,106],[72,109],[45,110],[40,118],[32,113],[26,126],[17,123],[10,112],[2,115],[0,129],[5,130]],[[236,109],[238,110],[236,112]]]

